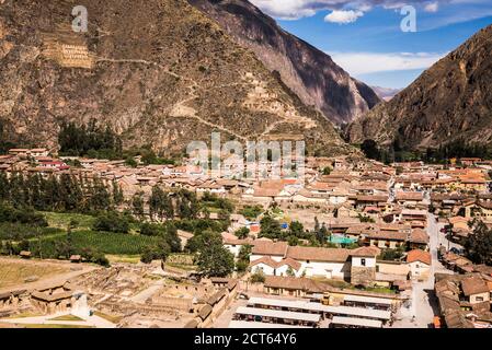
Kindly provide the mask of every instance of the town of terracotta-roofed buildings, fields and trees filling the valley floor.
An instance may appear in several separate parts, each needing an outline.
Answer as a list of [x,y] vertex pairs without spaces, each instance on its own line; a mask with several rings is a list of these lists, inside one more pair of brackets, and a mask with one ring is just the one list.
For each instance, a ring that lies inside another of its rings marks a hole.
[[492,327],[492,161],[184,164],[0,155],[0,327]]

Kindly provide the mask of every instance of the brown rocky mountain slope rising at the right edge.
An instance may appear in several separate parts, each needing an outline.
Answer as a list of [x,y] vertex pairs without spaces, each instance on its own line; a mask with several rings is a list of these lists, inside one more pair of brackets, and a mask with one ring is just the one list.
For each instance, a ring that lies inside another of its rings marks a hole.
[[492,25],[440,59],[409,88],[347,128],[351,142],[398,139],[410,149],[492,142]]

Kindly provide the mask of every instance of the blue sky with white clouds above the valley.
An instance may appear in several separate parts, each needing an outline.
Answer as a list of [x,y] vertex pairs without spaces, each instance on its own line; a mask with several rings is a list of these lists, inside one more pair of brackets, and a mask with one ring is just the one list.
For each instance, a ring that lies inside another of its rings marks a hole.
[[[492,0],[250,0],[286,31],[331,55],[353,77],[404,88],[492,24]],[[416,32],[402,32],[405,4]]]

